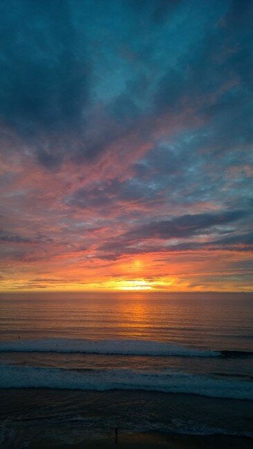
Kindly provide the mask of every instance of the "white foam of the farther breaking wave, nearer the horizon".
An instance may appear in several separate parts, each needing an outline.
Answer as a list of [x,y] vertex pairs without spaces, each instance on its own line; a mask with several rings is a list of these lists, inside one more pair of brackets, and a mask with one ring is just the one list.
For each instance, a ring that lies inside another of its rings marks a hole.
[[149,356],[219,356],[221,352],[194,349],[173,343],[145,340],[78,340],[43,338],[0,343],[0,352],[84,352],[86,354],[129,354]]

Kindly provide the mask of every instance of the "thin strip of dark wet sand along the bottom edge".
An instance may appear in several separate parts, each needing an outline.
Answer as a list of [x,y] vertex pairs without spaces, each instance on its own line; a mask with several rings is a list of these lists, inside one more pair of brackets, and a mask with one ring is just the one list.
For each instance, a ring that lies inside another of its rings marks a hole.
[[29,449],[252,449],[253,439],[247,437],[233,437],[227,435],[176,435],[162,434],[160,432],[147,432],[132,435],[118,434],[118,443],[115,437],[82,441],[78,444],[59,443],[57,441],[34,441]]

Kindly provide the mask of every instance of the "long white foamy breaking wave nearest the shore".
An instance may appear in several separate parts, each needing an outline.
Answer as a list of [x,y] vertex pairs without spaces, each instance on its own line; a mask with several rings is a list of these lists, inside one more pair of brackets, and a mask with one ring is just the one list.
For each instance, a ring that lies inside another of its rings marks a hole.
[[247,381],[217,379],[165,370],[162,372],[124,369],[65,370],[62,368],[0,367],[0,388],[54,388],[68,390],[147,390],[201,396],[253,399]]

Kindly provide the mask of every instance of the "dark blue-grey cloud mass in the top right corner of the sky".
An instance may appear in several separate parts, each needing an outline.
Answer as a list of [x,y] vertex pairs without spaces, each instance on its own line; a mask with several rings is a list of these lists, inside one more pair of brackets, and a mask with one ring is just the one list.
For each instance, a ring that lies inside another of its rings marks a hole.
[[[225,4],[225,3],[224,3]],[[205,120],[203,146],[230,151],[252,143],[253,3],[231,1],[223,20],[195,51],[160,77],[156,111],[188,113]],[[240,13],[237,11],[240,10]],[[246,17],[247,16],[247,17]],[[241,25],[243,23],[243,26]]]

